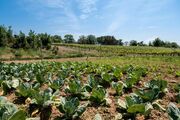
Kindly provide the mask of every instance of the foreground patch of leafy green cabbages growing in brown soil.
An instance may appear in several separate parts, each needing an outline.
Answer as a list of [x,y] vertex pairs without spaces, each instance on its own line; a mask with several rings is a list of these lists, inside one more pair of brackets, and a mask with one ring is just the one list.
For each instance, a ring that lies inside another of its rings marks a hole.
[[174,72],[172,82],[142,66],[0,63],[0,120],[180,120]]

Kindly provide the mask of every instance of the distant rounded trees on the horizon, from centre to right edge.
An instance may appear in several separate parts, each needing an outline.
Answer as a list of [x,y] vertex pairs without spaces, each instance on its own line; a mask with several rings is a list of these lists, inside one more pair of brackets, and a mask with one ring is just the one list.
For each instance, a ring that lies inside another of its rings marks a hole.
[[121,45],[121,46],[153,46],[153,47],[168,47],[178,48],[180,47],[176,42],[163,41],[160,38],[156,38],[149,44],[145,44],[143,41],[131,40],[130,42],[123,42],[122,39],[116,39],[114,36],[101,36],[95,37],[94,35],[80,36],[77,43],[79,44],[101,44],[101,45]]

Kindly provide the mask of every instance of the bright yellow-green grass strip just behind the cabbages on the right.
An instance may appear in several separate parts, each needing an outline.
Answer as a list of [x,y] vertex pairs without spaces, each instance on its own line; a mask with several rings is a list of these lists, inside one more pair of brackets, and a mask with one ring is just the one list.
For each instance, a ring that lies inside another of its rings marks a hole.
[[114,65],[124,65],[124,64],[132,64],[132,65],[180,65],[180,57],[179,56],[121,56],[121,57],[102,57],[95,61],[96,63],[102,64],[114,64]]

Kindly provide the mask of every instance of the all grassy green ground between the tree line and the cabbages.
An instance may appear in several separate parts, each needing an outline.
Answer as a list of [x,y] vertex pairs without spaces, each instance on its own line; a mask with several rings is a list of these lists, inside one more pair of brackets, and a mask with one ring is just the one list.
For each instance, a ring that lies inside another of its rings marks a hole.
[[[60,45],[60,44],[58,44]],[[33,49],[11,49],[0,48],[1,60],[28,60],[28,59],[53,59],[74,57],[97,57],[94,62],[107,64],[133,64],[153,65],[164,64],[179,66],[180,49],[155,48],[155,47],[127,47],[127,46],[101,46],[101,51],[96,45],[61,44],[74,49],[72,52],[65,51],[64,54],[53,54],[51,50]],[[127,51],[126,51],[127,50]],[[123,51],[123,54],[122,54]],[[156,51],[156,52],[155,52]],[[173,54],[176,51],[176,54]],[[174,56],[173,56],[174,55]],[[101,58],[100,58],[101,57]],[[100,59],[99,59],[100,58]]]

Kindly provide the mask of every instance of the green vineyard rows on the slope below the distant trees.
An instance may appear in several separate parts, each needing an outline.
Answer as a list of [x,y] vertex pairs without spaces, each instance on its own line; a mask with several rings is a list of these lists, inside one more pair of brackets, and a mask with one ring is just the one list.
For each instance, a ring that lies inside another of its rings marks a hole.
[[79,52],[92,51],[89,54],[93,56],[128,56],[128,55],[169,55],[169,56],[180,56],[180,49],[177,48],[163,48],[163,47],[148,47],[148,46],[115,46],[115,45],[81,45],[81,44],[54,44],[55,46],[65,46],[69,48],[79,49]]

